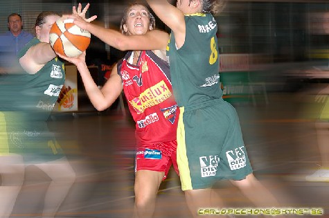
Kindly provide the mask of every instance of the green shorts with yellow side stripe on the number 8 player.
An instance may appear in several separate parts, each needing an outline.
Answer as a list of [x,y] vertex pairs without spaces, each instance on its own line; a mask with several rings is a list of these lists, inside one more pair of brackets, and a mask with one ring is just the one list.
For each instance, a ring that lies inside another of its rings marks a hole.
[[211,188],[215,181],[241,180],[252,173],[232,105],[220,99],[180,109],[177,163],[182,190]]

